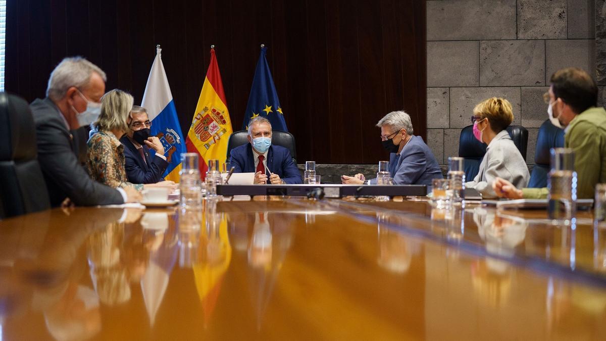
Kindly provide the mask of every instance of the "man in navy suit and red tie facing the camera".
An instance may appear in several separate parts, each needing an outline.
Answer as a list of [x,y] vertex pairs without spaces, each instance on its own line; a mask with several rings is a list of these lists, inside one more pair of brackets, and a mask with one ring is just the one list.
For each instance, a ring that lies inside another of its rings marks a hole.
[[248,123],[248,143],[231,149],[236,173],[255,173],[254,183],[303,183],[288,149],[271,144],[271,123],[256,117]]

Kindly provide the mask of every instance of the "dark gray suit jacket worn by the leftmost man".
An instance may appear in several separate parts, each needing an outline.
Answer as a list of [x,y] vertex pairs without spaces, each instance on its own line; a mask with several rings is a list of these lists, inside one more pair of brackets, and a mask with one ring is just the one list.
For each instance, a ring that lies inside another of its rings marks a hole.
[[38,99],[30,108],[36,125],[38,161],[50,204],[59,206],[67,197],[78,206],[124,203],[118,190],[92,180],[78,162],[77,154],[82,152],[83,144],[76,146],[80,139],[73,140],[55,103],[49,98]]

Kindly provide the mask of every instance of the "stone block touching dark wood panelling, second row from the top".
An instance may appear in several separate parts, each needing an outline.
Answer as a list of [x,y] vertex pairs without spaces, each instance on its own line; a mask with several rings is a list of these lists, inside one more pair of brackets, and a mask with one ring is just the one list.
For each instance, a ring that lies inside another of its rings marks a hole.
[[478,86],[478,41],[428,41],[427,86]]

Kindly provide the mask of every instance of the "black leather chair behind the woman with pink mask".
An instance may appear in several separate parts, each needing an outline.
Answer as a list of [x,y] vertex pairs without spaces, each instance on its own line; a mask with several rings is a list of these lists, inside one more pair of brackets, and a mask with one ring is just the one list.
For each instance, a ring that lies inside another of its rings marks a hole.
[[[508,126],[507,133],[526,160],[528,130],[522,126]],[[465,181],[471,181],[478,175],[480,163],[486,154],[487,145],[473,136],[473,125],[464,127],[459,137],[459,157],[465,158]]]

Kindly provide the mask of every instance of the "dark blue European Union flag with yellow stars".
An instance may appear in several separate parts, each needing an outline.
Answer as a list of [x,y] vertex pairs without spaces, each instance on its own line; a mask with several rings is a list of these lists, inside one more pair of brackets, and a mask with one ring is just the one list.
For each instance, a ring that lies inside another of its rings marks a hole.
[[253,86],[250,88],[248,96],[248,105],[244,113],[244,123],[242,129],[246,129],[248,122],[257,116],[267,118],[271,122],[271,129],[288,131],[284,113],[278,100],[276,86],[273,84],[269,65],[267,64],[267,47],[261,47],[261,55],[257,62]]

